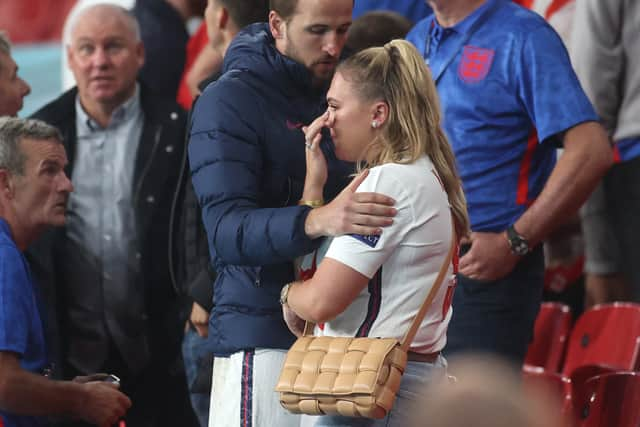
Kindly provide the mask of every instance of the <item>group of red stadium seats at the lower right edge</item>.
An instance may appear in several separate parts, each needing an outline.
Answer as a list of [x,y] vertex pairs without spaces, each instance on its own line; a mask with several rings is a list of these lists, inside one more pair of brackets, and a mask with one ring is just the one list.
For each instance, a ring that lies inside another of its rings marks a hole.
[[572,321],[544,303],[523,366],[524,384],[552,396],[567,426],[640,425],[640,304],[595,306]]

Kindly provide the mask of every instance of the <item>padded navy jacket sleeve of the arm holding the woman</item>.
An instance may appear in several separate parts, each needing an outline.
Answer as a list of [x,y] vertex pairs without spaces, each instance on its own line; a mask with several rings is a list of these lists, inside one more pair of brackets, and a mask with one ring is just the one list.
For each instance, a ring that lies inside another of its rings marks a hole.
[[[229,98],[246,95],[206,91],[196,103],[189,138],[193,187],[202,206],[209,245],[222,262],[261,266],[291,261],[311,252],[319,242],[311,241],[304,232],[308,208],[275,207],[291,195],[283,187],[286,182],[265,195],[262,181],[268,167],[263,164],[263,141],[255,129],[240,132],[242,135],[225,130],[223,123],[238,120]],[[249,103],[255,100],[239,101],[243,106]],[[212,121],[211,114],[216,120]],[[260,110],[253,115],[263,114]],[[262,125],[256,123],[256,128]]]

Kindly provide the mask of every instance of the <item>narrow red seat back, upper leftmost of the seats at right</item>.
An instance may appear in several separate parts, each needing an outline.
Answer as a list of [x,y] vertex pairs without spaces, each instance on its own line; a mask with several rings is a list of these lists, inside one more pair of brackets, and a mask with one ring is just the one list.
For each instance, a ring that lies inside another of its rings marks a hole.
[[533,341],[529,345],[525,365],[560,372],[562,358],[571,330],[571,309],[559,303],[543,303],[536,317]]

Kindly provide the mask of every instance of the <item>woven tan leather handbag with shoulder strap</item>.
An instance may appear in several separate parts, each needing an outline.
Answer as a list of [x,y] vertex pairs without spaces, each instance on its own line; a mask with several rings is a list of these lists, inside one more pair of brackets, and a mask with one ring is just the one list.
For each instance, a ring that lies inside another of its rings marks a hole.
[[384,418],[396,398],[407,352],[440,289],[451,249],[420,311],[402,341],[396,338],[314,337],[313,324],[293,344],[276,391],[280,404],[296,414]]

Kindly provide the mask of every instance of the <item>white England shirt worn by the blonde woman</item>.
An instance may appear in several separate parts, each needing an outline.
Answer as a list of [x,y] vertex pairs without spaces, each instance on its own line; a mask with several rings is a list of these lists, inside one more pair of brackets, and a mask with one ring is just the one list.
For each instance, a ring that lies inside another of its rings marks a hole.
[[[393,197],[398,210],[380,236],[333,239],[325,256],[369,277],[347,309],[316,334],[401,339],[424,302],[451,247],[449,201],[427,156],[409,165],[369,171],[358,192]],[[411,350],[432,353],[446,344],[455,286],[453,262],[429,307]]]

